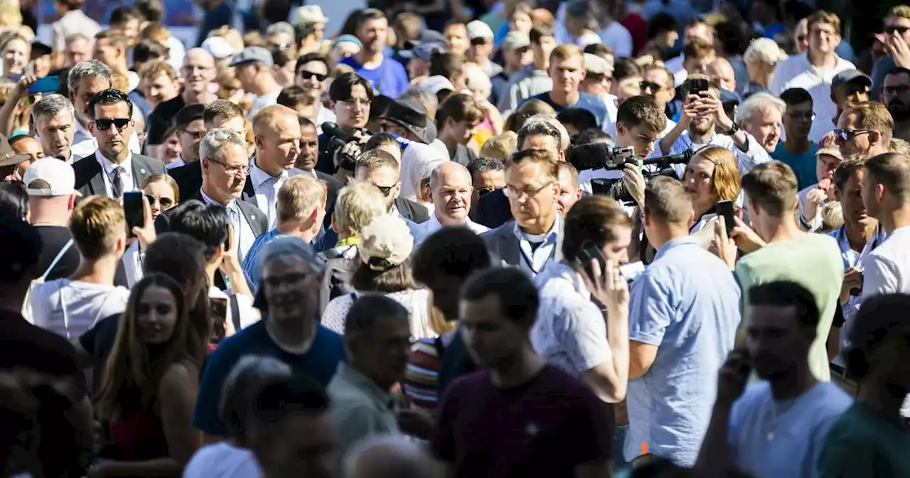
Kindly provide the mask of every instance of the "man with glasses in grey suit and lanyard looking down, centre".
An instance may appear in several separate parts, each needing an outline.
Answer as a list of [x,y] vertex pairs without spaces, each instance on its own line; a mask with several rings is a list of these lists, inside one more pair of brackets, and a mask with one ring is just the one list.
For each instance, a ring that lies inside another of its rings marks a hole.
[[556,156],[544,149],[515,153],[506,164],[506,187],[512,220],[480,235],[504,264],[531,276],[559,255],[561,221],[556,210],[559,193]]

